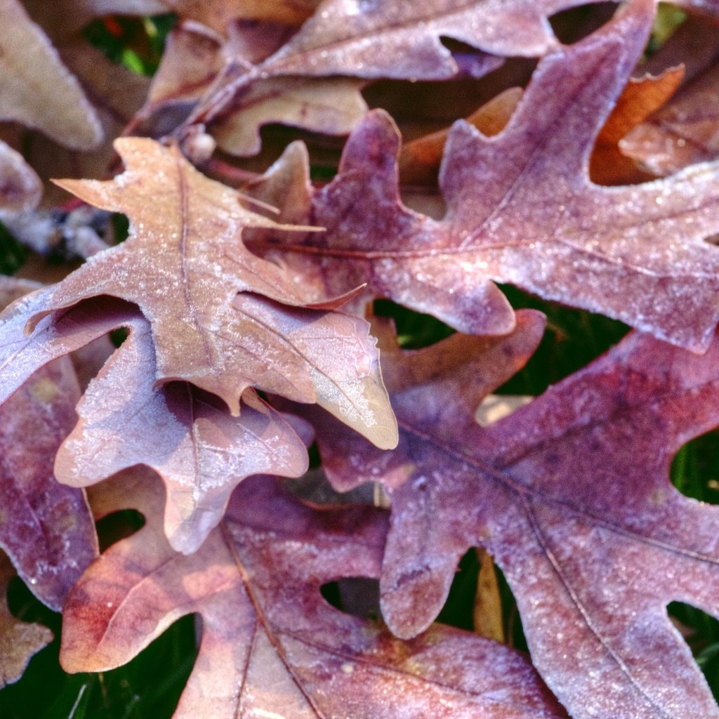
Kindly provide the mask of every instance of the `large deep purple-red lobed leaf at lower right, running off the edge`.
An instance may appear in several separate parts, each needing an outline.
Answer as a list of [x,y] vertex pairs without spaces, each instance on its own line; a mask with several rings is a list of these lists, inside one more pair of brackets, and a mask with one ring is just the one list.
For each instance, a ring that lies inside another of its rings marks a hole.
[[[719,509],[669,482],[679,447],[719,424],[719,339],[697,356],[634,333],[488,428],[473,422],[487,359],[452,376],[445,354],[430,348],[431,379],[393,394],[395,452],[347,446],[319,425],[336,484],[394,487],[389,626],[399,636],[428,626],[459,557],[485,546],[517,598],[534,665],[572,717],[718,717],[667,604],[719,615]],[[390,387],[407,362],[388,367]]]

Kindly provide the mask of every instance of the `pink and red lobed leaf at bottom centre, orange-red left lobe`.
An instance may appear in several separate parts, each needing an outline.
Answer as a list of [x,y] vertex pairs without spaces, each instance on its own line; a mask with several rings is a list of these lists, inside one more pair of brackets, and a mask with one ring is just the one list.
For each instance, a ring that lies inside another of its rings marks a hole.
[[63,622],[68,671],[123,664],[196,612],[201,645],[175,719],[565,716],[507,647],[441,626],[403,642],[326,603],[325,582],[377,576],[379,510],[313,510],[257,477],[234,493],[221,529],[185,557],[162,535],[162,493],[148,479],[93,490],[100,516],[132,506],[147,524],[76,585]]

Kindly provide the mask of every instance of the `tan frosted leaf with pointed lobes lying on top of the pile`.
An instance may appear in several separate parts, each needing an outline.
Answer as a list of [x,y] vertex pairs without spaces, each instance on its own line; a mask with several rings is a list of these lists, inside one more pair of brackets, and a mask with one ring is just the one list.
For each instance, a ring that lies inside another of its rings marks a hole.
[[244,228],[275,223],[244,209],[236,192],[178,150],[150,139],[116,142],[122,175],[60,184],[127,213],[131,236],[6,313],[6,374],[16,372],[14,349],[25,351],[22,321],[110,295],[136,303],[150,321],[159,382],[193,383],[234,413],[251,386],[319,402],[378,445],[394,446],[375,343],[365,321],[334,310],[345,298],[313,304],[280,267],[245,249]]

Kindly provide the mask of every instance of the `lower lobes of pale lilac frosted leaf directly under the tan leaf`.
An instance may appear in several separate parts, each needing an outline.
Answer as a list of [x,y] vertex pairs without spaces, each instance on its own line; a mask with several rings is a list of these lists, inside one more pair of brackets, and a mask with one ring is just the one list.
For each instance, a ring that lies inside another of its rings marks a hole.
[[86,487],[135,464],[156,470],[167,489],[165,533],[189,554],[219,523],[229,495],[255,474],[298,477],[307,452],[280,413],[253,390],[231,416],[186,383],[155,389],[155,352],[147,321],[132,331],[78,405],[80,421],[60,446],[58,479]]

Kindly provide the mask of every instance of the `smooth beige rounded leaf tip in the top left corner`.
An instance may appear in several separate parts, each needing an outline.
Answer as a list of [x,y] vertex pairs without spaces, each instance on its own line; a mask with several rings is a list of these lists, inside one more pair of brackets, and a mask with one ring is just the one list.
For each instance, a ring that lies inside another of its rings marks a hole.
[[65,147],[88,150],[102,129],[78,81],[17,0],[0,5],[0,118],[35,127]]

